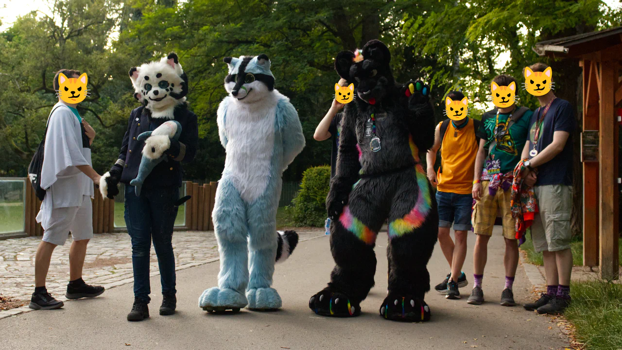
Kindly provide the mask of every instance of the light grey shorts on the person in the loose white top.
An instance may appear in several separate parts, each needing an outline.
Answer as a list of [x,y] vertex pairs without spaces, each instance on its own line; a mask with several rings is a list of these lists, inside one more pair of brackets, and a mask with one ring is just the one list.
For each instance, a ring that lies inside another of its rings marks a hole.
[[65,245],[72,233],[73,240],[93,238],[93,206],[91,197],[83,196],[80,207],[53,208],[47,227],[44,227],[43,241],[55,245]]

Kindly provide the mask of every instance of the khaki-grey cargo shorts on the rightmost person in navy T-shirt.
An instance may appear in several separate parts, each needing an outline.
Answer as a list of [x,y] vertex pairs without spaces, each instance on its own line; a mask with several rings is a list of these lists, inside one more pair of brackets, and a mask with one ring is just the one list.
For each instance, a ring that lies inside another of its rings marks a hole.
[[531,239],[536,252],[557,252],[570,248],[570,210],[572,186],[546,185],[534,187],[540,212],[531,225]]

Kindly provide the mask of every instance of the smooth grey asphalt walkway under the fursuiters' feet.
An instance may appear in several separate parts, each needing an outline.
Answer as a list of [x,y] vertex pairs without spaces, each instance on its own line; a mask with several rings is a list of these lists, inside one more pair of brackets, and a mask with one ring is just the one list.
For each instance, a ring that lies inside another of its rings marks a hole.
[[[182,236],[182,235],[179,235]],[[464,271],[469,285],[461,300],[446,300],[430,291],[429,323],[399,323],[379,316],[386,296],[386,234],[376,245],[376,286],[363,301],[363,314],[339,319],[317,316],[309,310],[309,297],[322,289],[334,262],[327,237],[301,242],[290,259],[277,265],[274,288],[283,299],[281,311],[259,313],[242,310],[237,315],[211,315],[197,306],[205,288],[216,285],[219,264],[207,263],[177,273],[178,312],[159,316],[160,279],[151,278],[151,318],[129,323],[132,283],[106,291],[98,298],[66,303],[61,310],[34,311],[0,319],[0,349],[565,349],[569,340],[555,319],[525,311],[521,306],[499,305],[504,284],[503,238],[489,244],[483,288],[486,303],[466,304],[472,286],[472,247]],[[205,237],[205,236],[200,236]],[[204,247],[208,247],[205,245]],[[182,250],[177,246],[178,250]],[[522,266],[522,265],[521,265]],[[448,266],[437,247],[428,265],[432,283],[438,283]],[[514,282],[516,301],[532,300],[532,287],[524,268]],[[86,342],[86,343],[85,343]]]

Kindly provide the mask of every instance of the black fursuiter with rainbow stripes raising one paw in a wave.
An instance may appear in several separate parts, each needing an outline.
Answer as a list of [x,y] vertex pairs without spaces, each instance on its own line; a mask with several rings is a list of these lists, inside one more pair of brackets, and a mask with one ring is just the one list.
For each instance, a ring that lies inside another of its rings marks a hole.
[[337,173],[326,200],[336,265],[328,286],[309,300],[318,315],[360,315],[361,301],[374,286],[376,237],[388,222],[389,290],[380,315],[430,319],[424,295],[439,215],[419,152],[434,144],[434,110],[429,87],[396,83],[390,60],[379,40],[335,58],[335,70],[355,84],[358,98],[344,108]]

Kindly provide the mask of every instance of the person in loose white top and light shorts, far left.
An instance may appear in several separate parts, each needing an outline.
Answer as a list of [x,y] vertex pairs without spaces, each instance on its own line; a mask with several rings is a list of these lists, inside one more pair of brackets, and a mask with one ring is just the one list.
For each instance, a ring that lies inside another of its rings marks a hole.
[[[78,78],[77,70],[59,70],[54,77],[54,90],[59,90],[58,77]],[[71,92],[72,96],[75,93]],[[40,186],[45,189],[37,222],[44,236],[35,257],[35,291],[29,307],[35,310],[62,308],[63,302],[53,298],[45,288],[52,252],[64,245],[71,232],[73,243],[69,250],[67,299],[93,298],[104,292],[102,286],[87,285],[82,280],[86,245],[93,237],[93,182],[99,184],[100,175],[91,167],[91,148],[95,130],[83,120],[75,108],[58,98],[48,120],[45,137],[44,161]]]

